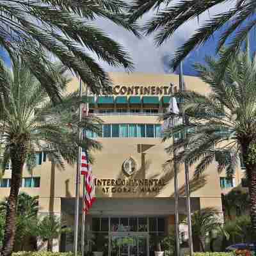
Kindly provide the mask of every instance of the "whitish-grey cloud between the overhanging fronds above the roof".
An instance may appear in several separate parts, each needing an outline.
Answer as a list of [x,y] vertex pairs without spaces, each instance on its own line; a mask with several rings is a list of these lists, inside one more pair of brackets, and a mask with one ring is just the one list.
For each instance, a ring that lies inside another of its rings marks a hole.
[[[177,1],[174,1],[175,3]],[[218,6],[205,12],[199,17],[199,24],[203,24],[205,20],[209,20],[212,15],[216,13],[221,13],[232,8],[232,3],[230,1],[226,4],[219,4]],[[143,24],[148,17],[152,16],[152,12],[147,14],[147,17],[141,19],[140,24]],[[125,49],[129,52],[134,62],[135,71],[137,72],[164,72],[166,68],[164,67],[163,58],[164,56],[171,55],[175,52],[177,47],[179,47],[189,36],[193,35],[195,29],[198,28],[197,18],[194,20],[189,20],[175,32],[175,34],[160,47],[154,45],[154,36],[150,35],[147,38],[138,39],[125,31],[124,29],[112,24],[108,20],[99,19],[96,24],[102,28],[106,33],[108,33],[111,38],[117,40],[120,44],[124,45]],[[101,63],[101,65],[108,71],[122,70],[113,67],[109,67],[106,63]]]

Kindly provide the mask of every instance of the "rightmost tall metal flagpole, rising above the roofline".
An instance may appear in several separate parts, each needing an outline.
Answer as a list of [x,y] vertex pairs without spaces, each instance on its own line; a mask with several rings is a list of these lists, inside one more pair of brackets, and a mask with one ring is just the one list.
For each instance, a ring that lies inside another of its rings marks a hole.
[[[183,80],[183,71],[182,71],[182,61],[180,62],[179,67],[179,89],[180,92],[184,92],[184,80]],[[185,125],[185,109],[184,102],[182,102],[182,123]],[[186,132],[184,132],[184,137]],[[185,159],[185,190],[186,190],[186,207],[187,207],[187,218],[188,218],[188,239],[189,239],[189,255],[193,254],[193,239],[192,239],[192,227],[191,227],[191,205],[190,205],[190,191],[189,191],[189,167],[188,161]]]

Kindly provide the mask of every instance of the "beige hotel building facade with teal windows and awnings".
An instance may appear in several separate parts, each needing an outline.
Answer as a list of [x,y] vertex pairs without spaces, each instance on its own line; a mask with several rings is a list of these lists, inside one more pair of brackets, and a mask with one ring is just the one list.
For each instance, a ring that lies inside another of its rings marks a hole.
[[[91,240],[103,235],[104,255],[150,256],[154,237],[168,235],[174,225],[173,166],[163,166],[172,157],[164,151],[172,141],[162,143],[159,115],[168,108],[170,94],[179,90],[179,76],[122,72],[110,76],[113,87],[108,95],[90,96],[90,115],[99,116],[104,124],[101,136],[86,134],[102,143],[102,150],[93,154],[97,200],[86,216],[87,250],[93,250]],[[209,93],[198,77],[185,76],[184,81],[189,90]],[[74,79],[69,90],[78,86]],[[73,228],[76,166],[67,165],[61,171],[44,152],[38,152],[37,161],[32,175],[25,168],[20,191],[39,196],[40,213],[54,212],[63,226]],[[11,172],[7,168],[0,181],[0,199],[10,192]],[[195,180],[191,166],[192,211],[215,207],[221,213],[221,193],[241,184],[243,172],[239,168],[230,179],[225,172],[218,173],[217,163],[213,163]],[[184,166],[180,166],[180,220],[186,215],[184,180]],[[181,241],[186,236],[186,227],[181,225]],[[72,234],[61,235],[56,250],[72,250],[72,240]]]

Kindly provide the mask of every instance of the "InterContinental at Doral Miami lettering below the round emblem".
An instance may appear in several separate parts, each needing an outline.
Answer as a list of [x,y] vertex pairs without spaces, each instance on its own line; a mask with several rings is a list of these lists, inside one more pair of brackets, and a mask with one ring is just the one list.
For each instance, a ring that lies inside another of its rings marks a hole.
[[163,179],[94,179],[102,193],[159,193]]

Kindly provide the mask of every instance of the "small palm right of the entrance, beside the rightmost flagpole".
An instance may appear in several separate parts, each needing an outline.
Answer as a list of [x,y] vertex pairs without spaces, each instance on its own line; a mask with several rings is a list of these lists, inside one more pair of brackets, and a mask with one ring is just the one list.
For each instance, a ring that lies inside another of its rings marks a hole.
[[199,241],[200,248],[205,252],[205,239],[211,237],[213,232],[220,232],[221,221],[218,212],[214,208],[204,208],[195,211],[191,218],[192,234],[196,241]]

